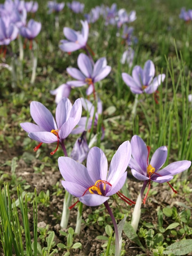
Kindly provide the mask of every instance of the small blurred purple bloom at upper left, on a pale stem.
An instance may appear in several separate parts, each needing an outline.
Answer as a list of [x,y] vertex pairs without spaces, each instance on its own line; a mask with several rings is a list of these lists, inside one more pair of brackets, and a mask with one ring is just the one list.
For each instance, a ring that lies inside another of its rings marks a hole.
[[21,36],[32,40],[35,38],[41,30],[41,22],[37,22],[33,19],[29,20],[27,27],[21,27],[20,34]]

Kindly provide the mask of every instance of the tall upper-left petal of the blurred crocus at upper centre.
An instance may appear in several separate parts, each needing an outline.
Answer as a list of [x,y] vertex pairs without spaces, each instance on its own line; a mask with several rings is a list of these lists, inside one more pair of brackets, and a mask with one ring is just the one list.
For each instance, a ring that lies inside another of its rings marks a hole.
[[89,57],[86,54],[84,54],[84,53],[79,54],[79,56],[77,58],[77,65],[78,65],[80,71],[87,78],[92,77],[92,63],[91,63]]

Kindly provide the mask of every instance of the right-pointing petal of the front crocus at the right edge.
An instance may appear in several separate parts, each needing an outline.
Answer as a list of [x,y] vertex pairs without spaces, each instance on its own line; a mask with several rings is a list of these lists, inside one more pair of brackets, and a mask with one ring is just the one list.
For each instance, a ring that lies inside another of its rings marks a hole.
[[190,166],[191,166],[191,161],[188,161],[188,160],[177,161],[177,162],[173,162],[173,163],[167,165],[165,168],[160,170],[158,173],[161,176],[176,175],[178,173],[181,173],[181,172],[187,170]]

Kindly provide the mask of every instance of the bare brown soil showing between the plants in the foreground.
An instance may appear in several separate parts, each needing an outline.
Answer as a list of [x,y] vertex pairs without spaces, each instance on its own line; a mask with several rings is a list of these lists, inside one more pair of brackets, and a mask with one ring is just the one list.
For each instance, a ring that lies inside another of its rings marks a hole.
[[[33,152],[31,152],[32,154]],[[60,217],[63,209],[63,194],[59,196],[53,195],[54,189],[53,186],[56,185],[57,182],[60,184],[60,188],[63,188],[61,185],[62,177],[57,168],[53,168],[53,166],[45,166],[43,169],[43,173],[37,173],[34,171],[34,167],[39,167],[42,162],[34,157],[31,162],[25,162],[25,157],[21,157],[23,154],[22,148],[17,146],[16,148],[7,148],[2,149],[0,152],[0,166],[1,171],[7,173],[9,177],[11,177],[11,167],[5,162],[7,160],[11,160],[13,157],[18,157],[17,167],[16,167],[16,175],[20,177],[21,182],[25,180],[25,185],[30,185],[30,188],[27,191],[34,192],[34,188],[37,189],[37,194],[40,191],[44,191],[46,193],[47,190],[50,192],[50,205],[46,207],[43,204],[38,204],[38,227],[46,227],[49,224],[49,230],[55,232],[55,242],[64,243],[66,242],[66,237],[61,236],[59,233],[60,230]],[[132,175],[129,175],[129,192],[132,200],[136,200],[138,192],[140,190],[141,184],[137,182]],[[10,182],[9,178],[8,181]],[[167,185],[167,184],[166,184]],[[177,198],[173,198],[171,196],[172,191],[168,187],[165,190],[165,186],[159,184],[159,186],[155,187],[154,190],[157,190],[158,193],[154,196],[150,196],[150,199],[147,200],[147,203],[143,205],[143,209],[145,209],[145,213],[143,214],[142,222],[145,220],[146,222],[156,223],[156,209],[159,205],[163,205],[163,207],[174,204],[174,201],[183,202],[183,198],[179,193],[177,194]],[[168,185],[167,185],[168,186]],[[64,190],[63,190],[64,193]],[[16,192],[13,194],[13,197],[17,197]],[[192,201],[192,195],[190,195],[190,201]],[[126,206],[123,205],[125,208]],[[87,207],[83,206],[83,220],[84,222],[87,220],[87,217],[90,213],[93,213],[94,210],[98,209],[98,207]],[[132,211],[133,209],[131,209]],[[33,236],[33,210],[32,204],[29,204],[29,222],[31,223],[31,236]],[[107,211],[106,211],[107,213]],[[75,208],[71,209],[69,227],[75,228],[76,223],[76,214],[77,210]],[[102,214],[105,214],[102,212]],[[119,221],[119,220],[118,220]],[[112,225],[112,222],[109,223]],[[139,224],[141,227],[142,223]],[[169,223],[167,223],[169,225]],[[67,231],[63,230],[63,231]],[[102,245],[105,243],[103,240],[98,240],[96,237],[105,234],[105,228],[99,226],[97,223],[92,225],[82,224],[81,233],[79,236],[75,237],[74,242],[80,242],[82,244],[82,249],[73,249],[71,251],[71,256],[97,256],[103,252]],[[123,240],[125,241],[125,256],[134,256],[137,254],[143,254],[142,250],[136,245],[133,241],[130,241],[125,234],[123,234]],[[144,240],[142,241],[143,246],[145,247]],[[41,241],[39,240],[39,243]],[[46,246],[46,243],[41,243],[41,246]],[[62,256],[65,254],[65,250],[59,249],[58,254],[56,256]],[[2,249],[0,249],[0,255],[4,255]],[[147,252],[145,255],[153,255],[151,252]]]

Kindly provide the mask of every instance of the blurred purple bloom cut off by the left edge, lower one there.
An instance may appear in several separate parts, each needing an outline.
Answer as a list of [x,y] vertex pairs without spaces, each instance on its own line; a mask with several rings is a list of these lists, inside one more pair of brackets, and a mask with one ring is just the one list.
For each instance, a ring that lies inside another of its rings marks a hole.
[[0,45],[9,45],[18,35],[18,28],[11,22],[10,16],[0,17]]

